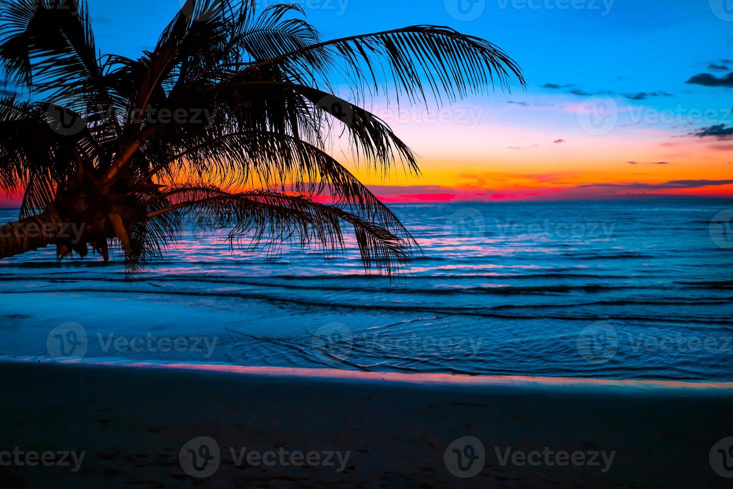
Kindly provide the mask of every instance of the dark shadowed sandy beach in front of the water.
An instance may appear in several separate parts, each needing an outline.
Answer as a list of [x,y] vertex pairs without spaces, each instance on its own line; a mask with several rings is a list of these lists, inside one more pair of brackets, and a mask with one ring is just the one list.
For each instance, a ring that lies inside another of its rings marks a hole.
[[[23,362],[0,372],[1,449],[84,452],[78,467],[3,467],[12,488],[729,484],[709,460],[733,435],[726,383]],[[446,449],[466,436],[485,463],[462,478]],[[180,460],[198,437],[220,453],[204,478]]]

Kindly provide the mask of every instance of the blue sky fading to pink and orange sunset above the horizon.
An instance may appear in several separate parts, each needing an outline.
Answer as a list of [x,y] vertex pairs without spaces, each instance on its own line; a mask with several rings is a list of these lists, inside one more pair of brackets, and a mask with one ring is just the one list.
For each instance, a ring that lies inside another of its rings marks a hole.
[[[139,56],[182,2],[89,0],[98,48]],[[437,24],[522,67],[526,89],[450,107],[373,100],[422,171],[357,169],[387,202],[733,196],[733,0],[285,3],[324,39]]]

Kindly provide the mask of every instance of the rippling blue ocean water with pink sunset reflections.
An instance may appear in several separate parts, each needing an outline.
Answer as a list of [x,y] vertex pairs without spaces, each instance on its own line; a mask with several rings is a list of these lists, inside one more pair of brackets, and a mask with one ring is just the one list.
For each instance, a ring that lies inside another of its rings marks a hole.
[[422,254],[392,281],[351,248],[193,232],[133,279],[119,256],[0,261],[0,356],[733,380],[732,201],[393,208]]

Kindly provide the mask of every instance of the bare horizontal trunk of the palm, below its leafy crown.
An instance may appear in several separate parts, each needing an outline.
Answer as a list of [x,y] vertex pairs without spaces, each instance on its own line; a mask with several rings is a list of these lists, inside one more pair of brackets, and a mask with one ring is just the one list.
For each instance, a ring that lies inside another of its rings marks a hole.
[[62,223],[55,212],[45,212],[0,227],[0,260],[55,244]]

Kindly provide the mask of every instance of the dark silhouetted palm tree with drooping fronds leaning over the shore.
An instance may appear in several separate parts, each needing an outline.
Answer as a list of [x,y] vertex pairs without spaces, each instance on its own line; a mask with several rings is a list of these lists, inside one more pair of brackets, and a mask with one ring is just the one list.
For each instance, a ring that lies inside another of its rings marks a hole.
[[409,265],[410,233],[327,144],[344,136],[374,171],[419,174],[359,103],[452,103],[495,79],[524,85],[519,67],[448,27],[323,42],[300,7],[254,4],[188,0],[155,48],[129,59],[97,54],[83,0],[1,2],[0,64],[29,97],[0,99],[0,185],[23,192],[0,259],[55,245],[59,258],[91,246],[108,260],[114,245],[134,269],[194,223],[229,229],[232,245],[296,240],[325,253],[344,248],[346,227],[367,270]]

